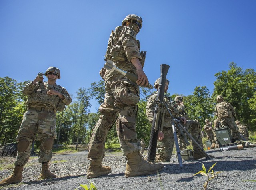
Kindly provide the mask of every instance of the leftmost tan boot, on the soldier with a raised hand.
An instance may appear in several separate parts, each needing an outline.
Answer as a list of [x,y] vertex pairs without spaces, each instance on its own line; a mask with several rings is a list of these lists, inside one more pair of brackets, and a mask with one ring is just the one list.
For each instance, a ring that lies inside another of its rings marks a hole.
[[15,166],[12,174],[0,181],[0,186],[19,183],[22,181],[21,173],[23,171],[23,166]]

